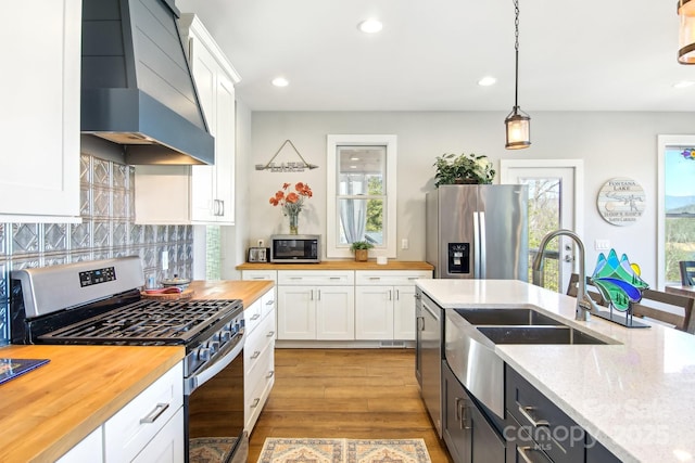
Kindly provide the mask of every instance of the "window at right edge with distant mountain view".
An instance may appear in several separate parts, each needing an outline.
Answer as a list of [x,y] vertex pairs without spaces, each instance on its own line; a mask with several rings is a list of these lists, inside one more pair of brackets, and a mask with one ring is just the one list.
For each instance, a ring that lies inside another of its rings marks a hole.
[[681,281],[695,259],[695,136],[659,136],[658,286]]

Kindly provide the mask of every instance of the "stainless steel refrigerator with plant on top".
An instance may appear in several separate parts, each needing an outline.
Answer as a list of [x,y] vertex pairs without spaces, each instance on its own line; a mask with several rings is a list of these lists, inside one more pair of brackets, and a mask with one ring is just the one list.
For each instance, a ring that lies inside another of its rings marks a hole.
[[426,195],[434,278],[529,280],[527,185],[441,185]]

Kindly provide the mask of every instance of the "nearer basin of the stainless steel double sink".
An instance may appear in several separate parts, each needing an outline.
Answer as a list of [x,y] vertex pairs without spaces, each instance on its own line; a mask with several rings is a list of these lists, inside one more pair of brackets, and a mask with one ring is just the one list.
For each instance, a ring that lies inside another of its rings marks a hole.
[[494,344],[608,344],[569,326],[477,326]]

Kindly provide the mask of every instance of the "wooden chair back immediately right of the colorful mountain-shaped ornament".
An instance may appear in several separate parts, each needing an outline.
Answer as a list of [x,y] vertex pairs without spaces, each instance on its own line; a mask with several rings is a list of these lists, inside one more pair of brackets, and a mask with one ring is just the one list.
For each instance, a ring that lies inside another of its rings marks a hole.
[[644,290],[642,300],[632,305],[635,317],[645,317],[695,334],[693,308],[695,299],[655,290]]

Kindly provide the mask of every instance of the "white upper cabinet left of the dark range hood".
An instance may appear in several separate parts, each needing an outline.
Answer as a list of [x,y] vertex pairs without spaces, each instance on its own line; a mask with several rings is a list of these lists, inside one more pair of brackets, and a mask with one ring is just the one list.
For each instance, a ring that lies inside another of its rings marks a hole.
[[0,222],[78,221],[81,2],[3,7]]

